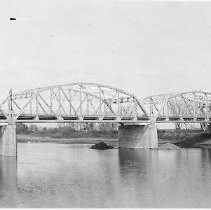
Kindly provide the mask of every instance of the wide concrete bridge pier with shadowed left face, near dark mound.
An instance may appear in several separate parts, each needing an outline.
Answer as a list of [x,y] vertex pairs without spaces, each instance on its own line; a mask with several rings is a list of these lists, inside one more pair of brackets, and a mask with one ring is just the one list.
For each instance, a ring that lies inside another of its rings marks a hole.
[[118,127],[119,148],[158,148],[157,126],[120,125]]

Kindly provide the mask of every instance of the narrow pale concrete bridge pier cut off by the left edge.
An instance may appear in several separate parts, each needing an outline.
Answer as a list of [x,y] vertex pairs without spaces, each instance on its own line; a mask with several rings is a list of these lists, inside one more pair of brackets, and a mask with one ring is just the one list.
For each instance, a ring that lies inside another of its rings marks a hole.
[[15,124],[0,126],[0,155],[13,157],[17,155]]

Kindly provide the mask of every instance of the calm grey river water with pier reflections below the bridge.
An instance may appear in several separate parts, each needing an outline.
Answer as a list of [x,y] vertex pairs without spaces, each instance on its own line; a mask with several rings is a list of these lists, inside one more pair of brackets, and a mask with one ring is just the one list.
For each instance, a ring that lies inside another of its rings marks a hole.
[[211,207],[211,150],[19,143],[0,157],[0,207]]

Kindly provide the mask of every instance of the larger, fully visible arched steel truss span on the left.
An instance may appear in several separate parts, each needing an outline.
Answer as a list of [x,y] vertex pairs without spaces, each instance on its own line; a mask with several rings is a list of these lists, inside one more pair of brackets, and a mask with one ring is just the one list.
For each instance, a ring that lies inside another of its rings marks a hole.
[[118,88],[71,83],[10,94],[0,107],[1,118],[16,122],[149,120],[140,101]]

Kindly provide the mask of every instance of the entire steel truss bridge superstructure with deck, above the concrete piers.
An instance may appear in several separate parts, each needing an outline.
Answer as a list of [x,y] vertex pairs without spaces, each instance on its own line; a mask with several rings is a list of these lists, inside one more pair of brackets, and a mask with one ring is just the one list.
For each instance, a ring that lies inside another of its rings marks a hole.
[[95,83],[71,83],[12,93],[0,105],[0,123],[210,123],[211,92],[140,98]]

